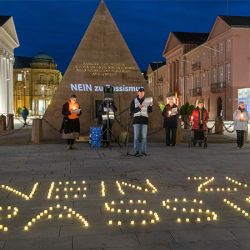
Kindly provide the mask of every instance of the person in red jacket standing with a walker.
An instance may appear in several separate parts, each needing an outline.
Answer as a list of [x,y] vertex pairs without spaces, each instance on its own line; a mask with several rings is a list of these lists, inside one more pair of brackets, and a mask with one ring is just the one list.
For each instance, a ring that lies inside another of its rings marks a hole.
[[194,132],[193,146],[196,146],[198,141],[201,147],[202,141],[204,141],[204,147],[207,147],[206,134],[208,130],[208,118],[208,111],[204,108],[204,101],[200,99],[191,115],[192,130]]

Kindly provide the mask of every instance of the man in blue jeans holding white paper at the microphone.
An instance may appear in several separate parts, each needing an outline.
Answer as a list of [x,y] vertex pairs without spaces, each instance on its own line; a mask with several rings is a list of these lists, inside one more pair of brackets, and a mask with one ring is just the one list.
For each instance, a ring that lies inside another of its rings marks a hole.
[[[153,98],[145,98],[145,90],[139,88],[137,97],[130,104],[134,127],[134,156],[147,156],[148,114],[153,111]],[[139,136],[141,134],[141,144]]]

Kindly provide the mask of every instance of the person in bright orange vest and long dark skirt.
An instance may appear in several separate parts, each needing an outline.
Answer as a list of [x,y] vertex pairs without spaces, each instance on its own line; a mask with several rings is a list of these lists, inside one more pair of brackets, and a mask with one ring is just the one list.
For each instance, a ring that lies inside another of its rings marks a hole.
[[76,95],[71,95],[70,99],[63,105],[63,138],[68,142],[68,148],[73,149],[75,139],[79,138],[80,121],[79,116],[82,111],[77,103]]

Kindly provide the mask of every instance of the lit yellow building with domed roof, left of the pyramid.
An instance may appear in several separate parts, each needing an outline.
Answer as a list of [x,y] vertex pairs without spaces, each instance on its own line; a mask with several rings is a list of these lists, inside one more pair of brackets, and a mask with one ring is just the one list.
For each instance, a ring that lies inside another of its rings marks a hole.
[[14,63],[14,111],[26,106],[30,115],[42,116],[58,88],[62,74],[45,53],[16,56]]

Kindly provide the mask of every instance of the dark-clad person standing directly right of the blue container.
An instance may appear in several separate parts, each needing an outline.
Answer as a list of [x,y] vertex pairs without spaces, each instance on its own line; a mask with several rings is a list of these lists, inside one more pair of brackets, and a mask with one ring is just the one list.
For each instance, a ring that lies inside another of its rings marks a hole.
[[[102,125],[102,141],[103,146],[109,146],[112,133],[112,121],[115,118],[117,108],[114,102],[103,101],[98,108],[98,121]],[[109,117],[108,117],[109,113]],[[109,125],[109,126],[108,126]],[[109,128],[109,131],[108,131]]]

